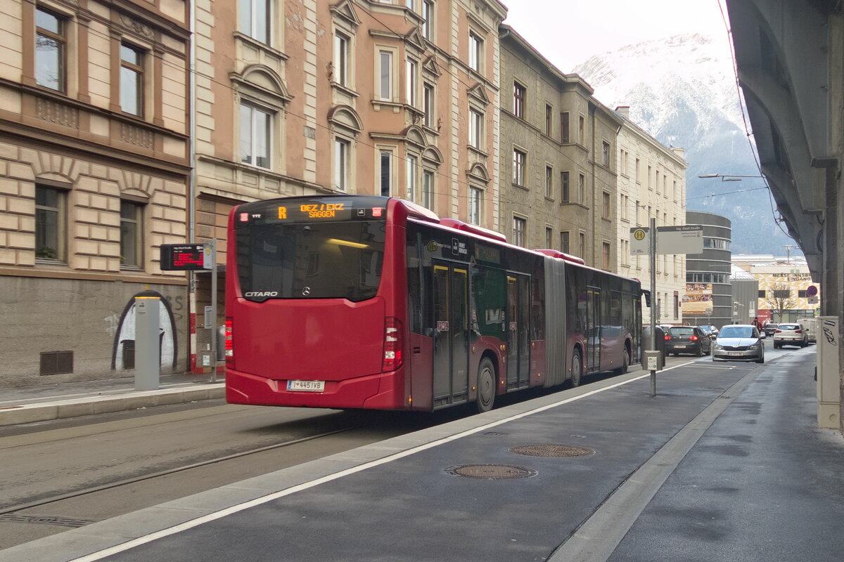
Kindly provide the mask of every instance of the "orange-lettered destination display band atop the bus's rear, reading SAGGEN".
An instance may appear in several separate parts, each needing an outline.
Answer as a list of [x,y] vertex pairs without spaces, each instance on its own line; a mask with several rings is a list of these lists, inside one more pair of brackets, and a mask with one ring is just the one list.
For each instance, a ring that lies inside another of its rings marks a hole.
[[325,196],[289,197],[244,203],[237,208],[235,223],[368,221],[387,219],[387,197]]

